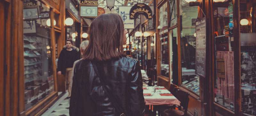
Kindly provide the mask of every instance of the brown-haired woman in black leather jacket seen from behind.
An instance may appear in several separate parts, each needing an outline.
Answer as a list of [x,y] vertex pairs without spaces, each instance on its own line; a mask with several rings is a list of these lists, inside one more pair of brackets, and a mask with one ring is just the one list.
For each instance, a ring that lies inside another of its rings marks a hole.
[[117,14],[92,21],[84,59],[74,69],[70,116],[144,115],[140,64],[124,54],[126,33]]

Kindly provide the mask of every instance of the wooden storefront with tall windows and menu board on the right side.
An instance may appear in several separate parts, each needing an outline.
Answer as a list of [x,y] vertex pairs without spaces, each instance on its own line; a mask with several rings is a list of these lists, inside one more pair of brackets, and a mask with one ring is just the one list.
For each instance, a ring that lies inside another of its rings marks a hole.
[[188,0],[157,2],[159,85],[173,83],[188,92],[193,115],[256,115],[255,1],[196,2],[201,6],[189,6]]

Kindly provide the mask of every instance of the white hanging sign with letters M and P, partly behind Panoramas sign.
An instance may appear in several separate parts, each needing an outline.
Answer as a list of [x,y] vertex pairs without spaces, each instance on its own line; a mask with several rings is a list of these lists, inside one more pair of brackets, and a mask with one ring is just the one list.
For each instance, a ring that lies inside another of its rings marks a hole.
[[124,29],[134,29],[134,20],[129,17],[131,8],[132,6],[119,6],[119,15],[124,21]]

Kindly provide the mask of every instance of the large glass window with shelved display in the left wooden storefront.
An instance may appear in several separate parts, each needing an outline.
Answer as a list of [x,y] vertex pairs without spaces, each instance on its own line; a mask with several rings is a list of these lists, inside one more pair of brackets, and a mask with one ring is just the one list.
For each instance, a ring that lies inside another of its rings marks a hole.
[[[24,1],[26,2],[26,1]],[[54,91],[50,9],[35,1],[23,9],[25,109]]]

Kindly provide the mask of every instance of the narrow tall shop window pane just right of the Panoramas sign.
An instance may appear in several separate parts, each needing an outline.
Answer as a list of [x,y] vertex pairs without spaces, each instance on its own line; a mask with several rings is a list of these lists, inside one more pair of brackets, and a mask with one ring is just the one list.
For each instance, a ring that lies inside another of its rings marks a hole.
[[160,52],[161,52],[161,75],[169,77],[169,42],[168,42],[168,8],[167,2],[165,2],[159,8],[159,38],[160,38]]

